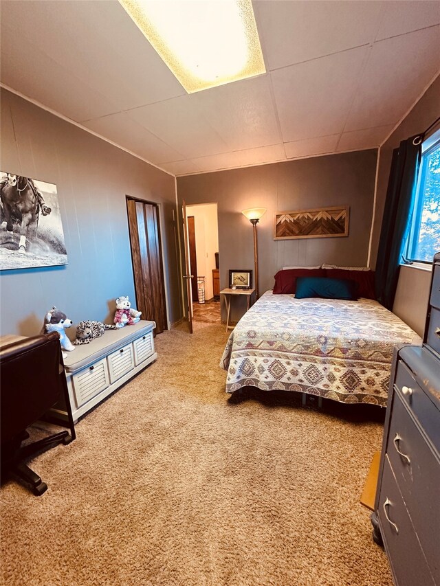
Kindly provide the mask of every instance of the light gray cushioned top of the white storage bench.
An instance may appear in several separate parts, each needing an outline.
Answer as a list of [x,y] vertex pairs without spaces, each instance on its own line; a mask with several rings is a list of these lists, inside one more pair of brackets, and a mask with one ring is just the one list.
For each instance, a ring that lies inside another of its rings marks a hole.
[[65,370],[66,372],[81,370],[88,364],[111,354],[113,350],[151,332],[155,327],[155,322],[147,322],[142,319],[134,326],[124,326],[119,330],[105,330],[100,338],[92,340],[89,344],[75,346],[75,350],[68,352],[64,359]]

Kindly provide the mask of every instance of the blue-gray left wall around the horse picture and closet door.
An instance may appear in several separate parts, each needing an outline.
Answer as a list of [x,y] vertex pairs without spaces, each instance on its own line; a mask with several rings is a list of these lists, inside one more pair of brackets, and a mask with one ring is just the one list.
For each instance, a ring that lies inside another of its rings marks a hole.
[[69,264],[0,273],[0,333],[35,335],[52,305],[111,320],[114,299],[135,299],[126,195],[159,204],[168,319],[181,317],[174,177],[1,90],[0,170],[56,183]]

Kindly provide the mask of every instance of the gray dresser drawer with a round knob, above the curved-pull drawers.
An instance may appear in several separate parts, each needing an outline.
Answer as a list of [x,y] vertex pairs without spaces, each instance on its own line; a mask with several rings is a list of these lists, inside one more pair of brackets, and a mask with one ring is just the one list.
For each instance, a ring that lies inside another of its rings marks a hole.
[[416,383],[408,366],[401,360],[397,363],[395,387],[397,396],[408,405],[410,412],[419,420],[421,427],[434,445],[439,444],[439,411],[430,398]]

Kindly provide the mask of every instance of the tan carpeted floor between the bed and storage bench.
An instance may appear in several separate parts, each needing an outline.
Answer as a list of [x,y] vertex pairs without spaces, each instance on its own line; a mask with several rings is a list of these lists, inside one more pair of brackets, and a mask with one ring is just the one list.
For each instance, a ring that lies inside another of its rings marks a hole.
[[4,585],[392,584],[359,502],[377,412],[230,399],[225,340],[157,336],[157,362],[34,460],[45,495],[3,486]]

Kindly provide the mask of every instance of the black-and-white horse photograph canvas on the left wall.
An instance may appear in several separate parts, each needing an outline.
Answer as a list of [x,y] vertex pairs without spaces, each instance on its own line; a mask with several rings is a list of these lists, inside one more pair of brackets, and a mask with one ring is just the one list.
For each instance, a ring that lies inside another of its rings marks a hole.
[[67,264],[54,183],[0,172],[0,270]]

